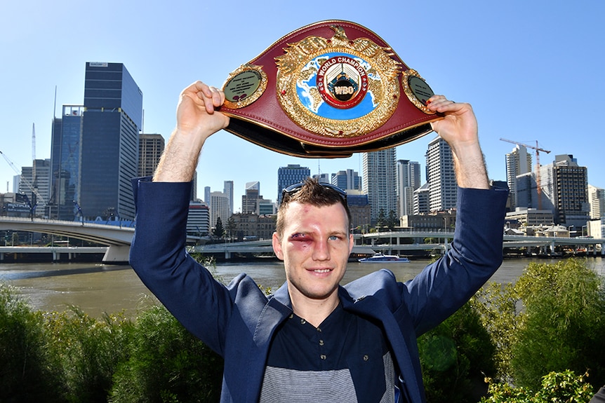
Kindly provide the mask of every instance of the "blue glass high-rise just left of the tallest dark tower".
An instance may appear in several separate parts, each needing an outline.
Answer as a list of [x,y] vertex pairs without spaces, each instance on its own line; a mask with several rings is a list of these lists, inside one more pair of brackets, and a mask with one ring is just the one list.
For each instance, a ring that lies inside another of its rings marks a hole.
[[51,138],[51,197],[47,215],[73,220],[80,200],[80,143],[84,107],[63,105],[60,118],[53,119]]

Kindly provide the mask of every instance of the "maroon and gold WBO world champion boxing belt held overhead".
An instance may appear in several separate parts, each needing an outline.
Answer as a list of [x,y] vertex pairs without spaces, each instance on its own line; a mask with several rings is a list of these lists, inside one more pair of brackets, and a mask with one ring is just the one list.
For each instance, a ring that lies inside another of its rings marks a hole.
[[370,30],[330,20],[287,34],[222,88],[228,132],[299,157],[347,157],[410,142],[441,118],[433,91]]

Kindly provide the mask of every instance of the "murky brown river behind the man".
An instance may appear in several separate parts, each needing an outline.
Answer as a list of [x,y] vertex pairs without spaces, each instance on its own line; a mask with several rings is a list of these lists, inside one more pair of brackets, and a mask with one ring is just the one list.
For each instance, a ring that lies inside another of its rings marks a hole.
[[[490,281],[514,282],[531,261],[553,262],[545,259],[505,259]],[[587,261],[605,276],[605,259],[589,257]],[[397,280],[406,281],[420,273],[426,260],[387,264]],[[379,264],[350,263],[343,284],[382,267]],[[277,289],[285,281],[284,268],[279,261],[222,262],[213,269],[218,278],[229,282],[239,273],[247,273],[263,288]],[[77,263],[0,264],[0,282],[16,287],[20,296],[32,308],[43,311],[66,310],[78,306],[88,315],[124,313],[134,317],[142,301],[151,293],[142,284],[131,266]],[[153,297],[151,296],[152,300]]]

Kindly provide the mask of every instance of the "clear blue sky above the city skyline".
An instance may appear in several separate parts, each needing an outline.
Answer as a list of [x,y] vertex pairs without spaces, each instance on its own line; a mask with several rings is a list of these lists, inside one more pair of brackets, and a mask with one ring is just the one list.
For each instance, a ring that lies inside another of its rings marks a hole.
[[[331,6],[333,4],[333,6]],[[84,101],[86,62],[122,62],[143,93],[145,132],[168,139],[182,88],[227,75],[281,36],[319,20],[350,20],[381,36],[435,93],[470,102],[492,179],[505,180],[500,137],[538,144],[540,162],[573,154],[588,182],[605,187],[605,1],[4,1],[0,6],[0,151],[15,165],[50,158],[55,87],[62,104]],[[397,147],[425,167],[433,134]],[[246,182],[277,199],[277,169],[313,174],[352,168],[361,156],[303,159],[262,149],[227,132],[206,142],[204,186],[233,180],[236,210]],[[15,172],[0,158],[0,192]],[[425,180],[423,175],[423,180]]]

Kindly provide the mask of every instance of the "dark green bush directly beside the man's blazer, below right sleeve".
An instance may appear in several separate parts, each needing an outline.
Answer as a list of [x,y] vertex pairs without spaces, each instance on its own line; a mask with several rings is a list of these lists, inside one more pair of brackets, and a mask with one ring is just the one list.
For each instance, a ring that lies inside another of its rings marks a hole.
[[484,374],[495,374],[495,347],[480,316],[466,303],[418,339],[428,402],[477,402]]

